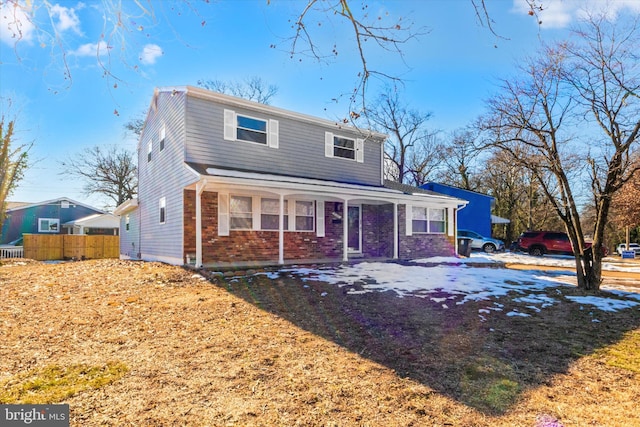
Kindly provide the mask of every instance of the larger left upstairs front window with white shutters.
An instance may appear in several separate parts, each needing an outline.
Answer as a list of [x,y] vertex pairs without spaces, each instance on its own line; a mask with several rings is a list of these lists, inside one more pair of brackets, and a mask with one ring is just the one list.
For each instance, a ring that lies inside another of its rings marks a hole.
[[224,110],[224,139],[245,141],[278,148],[278,121],[236,114]]

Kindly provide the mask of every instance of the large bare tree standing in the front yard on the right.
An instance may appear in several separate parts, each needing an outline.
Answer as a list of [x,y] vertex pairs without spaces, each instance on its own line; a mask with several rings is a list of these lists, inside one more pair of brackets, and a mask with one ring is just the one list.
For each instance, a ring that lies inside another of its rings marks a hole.
[[[553,203],[574,248],[579,287],[598,290],[611,199],[640,170],[630,161],[640,140],[638,26],[590,16],[574,35],[575,43],[523,65],[520,79],[504,80],[483,124],[490,144],[528,169]],[[585,181],[596,209],[590,249],[578,204]]]

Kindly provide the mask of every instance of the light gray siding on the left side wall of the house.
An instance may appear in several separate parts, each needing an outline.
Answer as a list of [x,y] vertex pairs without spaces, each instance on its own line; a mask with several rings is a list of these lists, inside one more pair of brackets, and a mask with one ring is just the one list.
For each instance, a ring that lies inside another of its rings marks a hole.
[[[143,258],[182,259],[183,189],[197,180],[184,164],[184,92],[160,92],[157,110],[152,108],[138,150],[140,247]],[[165,145],[160,151],[160,128],[165,126]],[[151,161],[147,146],[153,139]],[[159,200],[166,199],[165,223],[160,223]]]

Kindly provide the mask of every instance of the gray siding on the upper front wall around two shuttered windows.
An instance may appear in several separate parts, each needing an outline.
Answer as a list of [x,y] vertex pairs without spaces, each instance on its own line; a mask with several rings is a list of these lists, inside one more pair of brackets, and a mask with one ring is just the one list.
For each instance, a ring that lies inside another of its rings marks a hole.
[[277,120],[279,147],[275,149],[262,144],[225,140],[225,106],[191,96],[186,105],[187,162],[353,184],[381,185],[380,142],[365,139],[363,163],[325,157],[325,132],[354,139],[362,138],[354,129],[337,125],[323,126],[236,106],[226,108],[250,117]]

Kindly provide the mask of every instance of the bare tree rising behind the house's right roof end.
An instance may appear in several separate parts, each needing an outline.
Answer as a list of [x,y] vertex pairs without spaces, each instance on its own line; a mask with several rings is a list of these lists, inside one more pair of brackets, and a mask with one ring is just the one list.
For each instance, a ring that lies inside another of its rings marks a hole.
[[437,152],[434,134],[426,128],[431,113],[407,107],[394,87],[387,87],[372,105],[365,110],[369,126],[389,135],[385,178],[404,184],[424,180]]

